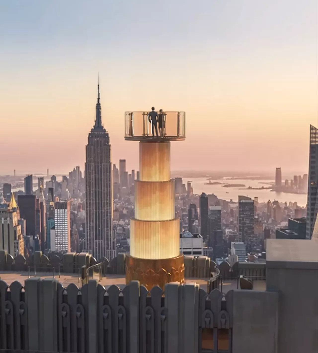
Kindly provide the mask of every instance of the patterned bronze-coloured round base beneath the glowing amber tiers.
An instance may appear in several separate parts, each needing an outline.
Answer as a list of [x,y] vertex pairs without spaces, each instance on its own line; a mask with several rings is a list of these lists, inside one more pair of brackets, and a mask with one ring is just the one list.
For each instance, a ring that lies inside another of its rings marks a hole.
[[148,291],[154,286],[163,290],[169,282],[184,283],[183,255],[170,259],[139,259],[126,254],[126,284],[137,280]]

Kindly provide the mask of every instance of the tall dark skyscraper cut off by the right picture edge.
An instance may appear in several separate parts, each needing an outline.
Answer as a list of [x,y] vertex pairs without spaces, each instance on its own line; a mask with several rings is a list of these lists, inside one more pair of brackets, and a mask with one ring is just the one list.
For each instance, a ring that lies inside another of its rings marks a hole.
[[308,178],[306,239],[311,239],[318,213],[318,129],[312,125],[310,125]]

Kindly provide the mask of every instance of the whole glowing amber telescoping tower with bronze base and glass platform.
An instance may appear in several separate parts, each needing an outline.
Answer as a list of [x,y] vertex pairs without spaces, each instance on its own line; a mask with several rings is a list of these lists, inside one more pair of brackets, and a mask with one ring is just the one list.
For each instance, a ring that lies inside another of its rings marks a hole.
[[168,282],[184,282],[174,181],[170,179],[170,141],[185,138],[185,114],[163,114],[159,136],[153,136],[147,112],[126,113],[125,139],[140,141],[140,180],[135,181],[135,218],[130,220],[126,283],[139,280],[148,290],[153,286],[164,289]]

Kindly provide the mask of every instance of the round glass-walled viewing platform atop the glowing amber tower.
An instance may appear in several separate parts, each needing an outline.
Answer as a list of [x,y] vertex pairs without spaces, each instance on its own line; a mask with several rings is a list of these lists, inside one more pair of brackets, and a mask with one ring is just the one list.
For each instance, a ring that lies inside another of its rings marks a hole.
[[185,139],[185,112],[157,113],[157,121],[153,124],[148,119],[149,112],[125,112],[125,140],[164,142]]

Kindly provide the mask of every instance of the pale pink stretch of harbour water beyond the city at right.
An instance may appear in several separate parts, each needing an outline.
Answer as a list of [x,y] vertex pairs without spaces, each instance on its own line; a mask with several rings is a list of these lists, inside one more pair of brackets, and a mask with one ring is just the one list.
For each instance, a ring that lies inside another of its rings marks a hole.
[[[230,177],[229,177],[230,178]],[[211,184],[207,178],[183,178],[183,183],[187,184],[187,181],[191,181],[193,187],[193,193],[200,195],[202,192],[206,194],[214,194],[220,199],[237,202],[239,195],[244,195],[248,197],[258,197],[259,202],[267,202],[268,200],[279,202],[297,202],[299,206],[305,207],[307,204],[307,195],[306,194],[293,194],[285,192],[275,192],[269,189],[264,190],[240,190],[242,187],[223,187],[223,184]],[[259,187],[262,186],[269,187],[269,183],[274,182],[273,180],[251,180],[251,179],[228,179],[224,177],[223,179],[211,180],[211,183],[224,183],[224,184],[243,184],[246,185],[246,188]]]

